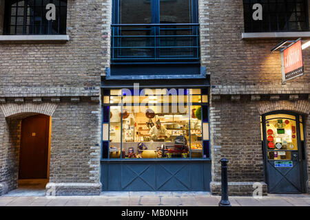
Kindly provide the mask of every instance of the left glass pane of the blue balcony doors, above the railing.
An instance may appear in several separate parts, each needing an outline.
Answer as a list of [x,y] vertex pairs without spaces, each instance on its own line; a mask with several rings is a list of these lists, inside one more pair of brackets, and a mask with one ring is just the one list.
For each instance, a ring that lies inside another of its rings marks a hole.
[[151,1],[120,0],[119,23],[152,23]]

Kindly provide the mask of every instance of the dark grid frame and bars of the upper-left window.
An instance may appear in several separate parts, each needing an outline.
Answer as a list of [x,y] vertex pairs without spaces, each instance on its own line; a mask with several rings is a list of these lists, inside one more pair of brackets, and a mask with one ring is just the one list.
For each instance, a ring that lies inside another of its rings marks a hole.
[[[53,34],[53,35],[59,35],[59,34],[66,34],[66,28],[67,28],[67,8],[68,8],[68,0],[56,0],[58,1],[56,6],[56,21],[44,21],[45,14],[48,12],[48,10],[45,9],[46,5],[43,5],[43,0],[32,0],[34,5],[29,5],[28,1],[30,0],[24,0],[23,5],[19,5],[19,2],[22,0],[6,0],[4,5],[4,21],[3,21],[3,34],[5,35],[45,35],[45,34]],[[36,4],[39,2],[39,6],[36,6]],[[16,3],[16,5],[14,5]],[[55,0],[50,0],[49,3],[55,3]],[[14,6],[13,6],[14,5]],[[16,14],[12,15],[12,8],[15,8]],[[19,8],[23,8],[23,15],[18,15]],[[63,12],[63,9],[65,8],[65,14],[61,14]],[[28,10],[32,10],[32,14],[27,14]],[[39,12],[41,14],[39,25],[37,25],[35,21],[35,12]],[[14,18],[15,23],[14,25],[11,24],[11,19]],[[17,24],[17,19],[22,18],[23,25]],[[43,19],[42,19],[43,18]],[[64,23],[65,26],[61,28],[61,18],[65,19]],[[27,20],[29,19],[29,23]],[[53,22],[56,22],[56,30],[53,28]],[[11,27],[14,28],[14,31],[11,31]],[[22,27],[22,33],[17,32],[17,27]],[[37,28],[37,29],[36,29]]]

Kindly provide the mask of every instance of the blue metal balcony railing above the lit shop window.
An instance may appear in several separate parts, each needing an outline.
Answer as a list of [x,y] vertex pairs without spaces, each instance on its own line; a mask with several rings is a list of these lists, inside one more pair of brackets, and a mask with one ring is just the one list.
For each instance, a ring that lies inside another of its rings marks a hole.
[[112,63],[198,63],[198,24],[111,25]]

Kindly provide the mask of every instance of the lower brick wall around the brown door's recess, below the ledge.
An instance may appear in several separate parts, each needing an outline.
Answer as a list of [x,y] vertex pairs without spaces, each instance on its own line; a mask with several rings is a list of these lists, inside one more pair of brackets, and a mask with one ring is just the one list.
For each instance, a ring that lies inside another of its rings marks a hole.
[[[37,104],[37,109],[44,104]],[[2,104],[0,109],[6,105],[12,104]],[[31,109],[32,103],[19,105]],[[55,195],[99,195],[101,192],[100,112],[99,104],[91,102],[60,102],[51,112],[50,183],[46,188],[54,190]],[[0,110],[0,190],[3,194],[17,188],[21,120],[34,114],[20,112],[5,118]]]

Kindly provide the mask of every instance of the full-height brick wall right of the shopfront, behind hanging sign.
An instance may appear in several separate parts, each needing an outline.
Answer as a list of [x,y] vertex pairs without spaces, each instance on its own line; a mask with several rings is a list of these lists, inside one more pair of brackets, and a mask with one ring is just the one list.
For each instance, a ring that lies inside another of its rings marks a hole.
[[[253,183],[265,181],[260,115],[274,110],[309,114],[310,50],[303,51],[306,74],[282,85],[280,54],[270,52],[282,39],[242,40],[242,0],[205,0],[199,5],[201,63],[210,74],[212,98],[211,191],[220,193],[218,161],[227,157],[229,192],[251,195]],[[304,127],[309,135],[309,125]],[[307,149],[309,164],[309,137]]]

